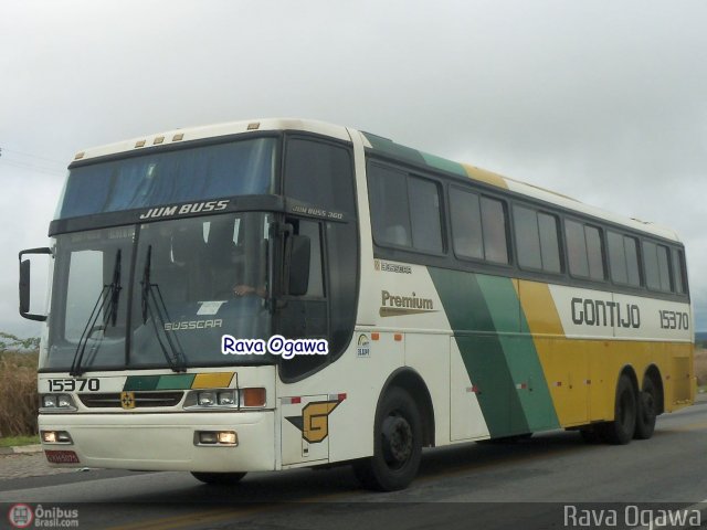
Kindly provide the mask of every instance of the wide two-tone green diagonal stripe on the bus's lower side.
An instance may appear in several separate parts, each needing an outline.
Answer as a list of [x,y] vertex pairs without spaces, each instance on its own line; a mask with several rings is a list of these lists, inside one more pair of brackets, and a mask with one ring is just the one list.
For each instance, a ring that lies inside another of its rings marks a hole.
[[[513,279],[430,268],[493,437],[559,427]],[[517,385],[525,385],[518,389]]]

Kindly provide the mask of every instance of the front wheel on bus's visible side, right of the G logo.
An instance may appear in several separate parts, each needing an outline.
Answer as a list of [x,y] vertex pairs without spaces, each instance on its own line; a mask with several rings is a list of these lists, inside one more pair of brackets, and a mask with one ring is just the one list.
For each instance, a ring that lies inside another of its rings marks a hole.
[[367,489],[404,489],[418,474],[421,457],[420,411],[408,392],[393,386],[376,414],[373,456],[354,463],[354,473]]

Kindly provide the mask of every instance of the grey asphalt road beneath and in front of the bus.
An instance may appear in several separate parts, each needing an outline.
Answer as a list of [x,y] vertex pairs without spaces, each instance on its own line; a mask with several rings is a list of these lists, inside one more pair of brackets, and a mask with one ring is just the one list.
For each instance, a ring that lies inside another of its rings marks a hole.
[[[626,446],[588,445],[558,431],[513,445],[431,449],[412,486],[392,494],[360,489],[348,467],[251,474],[228,488],[184,473],[91,470],[0,479],[0,502],[78,509],[80,528],[116,530],[562,528],[568,506],[616,509],[621,528],[625,505],[640,504],[632,513],[643,517],[707,499],[706,449],[700,402],[661,416],[652,439]],[[707,512],[701,519],[707,526]]]

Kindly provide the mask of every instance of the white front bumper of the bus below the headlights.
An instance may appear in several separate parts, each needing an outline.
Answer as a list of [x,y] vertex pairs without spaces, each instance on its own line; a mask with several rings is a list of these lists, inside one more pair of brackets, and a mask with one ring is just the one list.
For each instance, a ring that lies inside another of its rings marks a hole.
[[[73,444],[42,444],[74,451],[78,464],[172,471],[262,471],[275,469],[273,411],[175,414],[41,414],[41,431],[66,431]],[[197,446],[196,431],[235,431],[238,446]]]

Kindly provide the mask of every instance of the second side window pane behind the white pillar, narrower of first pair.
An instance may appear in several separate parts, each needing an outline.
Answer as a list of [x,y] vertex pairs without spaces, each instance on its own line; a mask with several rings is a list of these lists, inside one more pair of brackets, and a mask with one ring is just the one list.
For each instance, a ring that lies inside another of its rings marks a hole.
[[410,177],[408,181],[412,246],[420,251],[443,251],[440,191],[431,180]]

